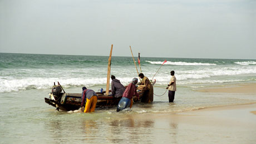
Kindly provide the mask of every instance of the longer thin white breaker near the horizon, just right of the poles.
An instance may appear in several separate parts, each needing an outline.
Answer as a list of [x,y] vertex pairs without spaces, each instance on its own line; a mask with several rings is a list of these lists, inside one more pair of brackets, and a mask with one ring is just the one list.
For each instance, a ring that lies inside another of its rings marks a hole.
[[[150,64],[163,64],[163,61],[148,61],[148,60],[146,60],[146,62],[148,62]],[[186,66],[216,65],[216,64],[210,64],[210,63],[186,63],[186,62],[182,62],[182,61],[178,61],[178,62],[167,61],[165,64],[166,65],[186,65]]]

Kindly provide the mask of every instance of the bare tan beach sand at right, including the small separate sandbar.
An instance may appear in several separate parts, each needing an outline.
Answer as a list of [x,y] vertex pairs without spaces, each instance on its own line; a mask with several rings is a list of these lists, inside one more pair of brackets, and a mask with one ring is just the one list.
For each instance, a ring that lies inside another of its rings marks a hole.
[[[201,89],[201,92],[255,93],[256,84],[229,85]],[[256,96],[256,95],[255,95]],[[256,102],[243,105],[209,107],[185,112],[140,114],[129,117],[138,123],[151,121],[154,133],[163,143],[255,143]],[[166,132],[169,131],[169,137]],[[155,141],[157,142],[157,141]]]

